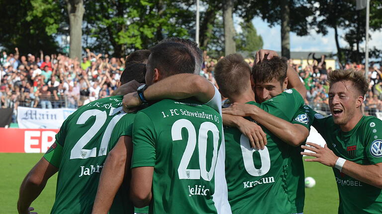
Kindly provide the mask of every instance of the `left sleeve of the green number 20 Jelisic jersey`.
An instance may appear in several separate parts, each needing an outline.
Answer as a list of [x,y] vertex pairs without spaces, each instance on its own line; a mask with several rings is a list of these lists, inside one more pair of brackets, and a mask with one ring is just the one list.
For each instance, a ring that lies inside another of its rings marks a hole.
[[155,127],[150,117],[140,111],[133,124],[133,157],[131,168],[155,166],[156,156]]

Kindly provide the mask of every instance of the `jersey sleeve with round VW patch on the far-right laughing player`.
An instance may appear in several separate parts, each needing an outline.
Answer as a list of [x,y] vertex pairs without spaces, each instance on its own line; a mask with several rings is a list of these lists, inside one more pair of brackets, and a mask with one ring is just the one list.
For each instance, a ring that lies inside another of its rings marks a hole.
[[365,128],[366,154],[372,164],[382,162],[382,121],[376,117],[368,120]]

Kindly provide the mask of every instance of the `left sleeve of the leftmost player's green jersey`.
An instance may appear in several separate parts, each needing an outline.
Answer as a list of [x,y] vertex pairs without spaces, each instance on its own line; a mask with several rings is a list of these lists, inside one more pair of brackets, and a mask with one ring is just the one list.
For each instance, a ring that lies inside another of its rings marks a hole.
[[64,148],[65,136],[67,131],[67,123],[70,117],[68,117],[62,124],[60,131],[56,134],[56,141],[46,151],[44,158],[57,168],[61,163],[62,150]]

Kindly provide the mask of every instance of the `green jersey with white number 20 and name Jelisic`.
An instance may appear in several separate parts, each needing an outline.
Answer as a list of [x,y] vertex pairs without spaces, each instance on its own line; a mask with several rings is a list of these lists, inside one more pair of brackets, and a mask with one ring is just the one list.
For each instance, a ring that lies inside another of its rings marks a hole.
[[162,100],[137,113],[133,145],[131,167],[154,167],[149,213],[231,213],[216,110],[193,100]]

